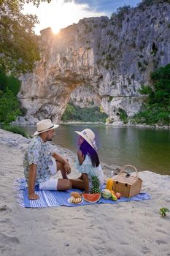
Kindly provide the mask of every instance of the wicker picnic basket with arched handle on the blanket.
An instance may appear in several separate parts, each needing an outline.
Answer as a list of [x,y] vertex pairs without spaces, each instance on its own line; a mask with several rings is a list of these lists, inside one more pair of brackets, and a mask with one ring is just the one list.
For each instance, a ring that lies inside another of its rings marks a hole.
[[[127,173],[125,169],[133,169],[136,171],[136,176],[134,173]],[[140,193],[142,187],[142,179],[138,176],[138,171],[133,165],[124,165],[121,167],[120,173],[113,178],[113,189],[115,192],[119,192],[124,197],[133,197]]]

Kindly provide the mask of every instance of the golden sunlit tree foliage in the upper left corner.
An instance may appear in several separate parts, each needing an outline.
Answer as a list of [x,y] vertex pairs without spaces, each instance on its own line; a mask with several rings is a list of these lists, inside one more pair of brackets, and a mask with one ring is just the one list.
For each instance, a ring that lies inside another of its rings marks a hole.
[[[0,0],[0,69],[15,74],[32,71],[39,60],[34,34],[36,15],[23,15],[23,4],[45,0]],[[50,2],[50,0],[47,0]]]

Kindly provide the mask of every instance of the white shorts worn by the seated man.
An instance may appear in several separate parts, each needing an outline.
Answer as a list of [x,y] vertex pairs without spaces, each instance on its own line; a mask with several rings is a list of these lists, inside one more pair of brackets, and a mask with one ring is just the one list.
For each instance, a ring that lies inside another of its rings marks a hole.
[[[52,157],[53,165],[49,165],[51,175],[54,176],[57,173],[57,165],[54,157]],[[47,181],[39,183],[39,189],[42,190],[57,190],[58,178],[51,178]]]

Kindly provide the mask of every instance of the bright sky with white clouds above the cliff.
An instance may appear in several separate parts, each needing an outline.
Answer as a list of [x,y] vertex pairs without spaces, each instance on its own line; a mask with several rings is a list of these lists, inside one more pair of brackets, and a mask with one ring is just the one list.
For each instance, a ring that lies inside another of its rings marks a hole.
[[36,14],[39,24],[34,31],[51,27],[53,33],[58,33],[66,26],[78,23],[82,18],[108,16],[124,5],[135,7],[141,0],[52,0],[49,4],[42,2],[39,7],[25,4],[23,13]]

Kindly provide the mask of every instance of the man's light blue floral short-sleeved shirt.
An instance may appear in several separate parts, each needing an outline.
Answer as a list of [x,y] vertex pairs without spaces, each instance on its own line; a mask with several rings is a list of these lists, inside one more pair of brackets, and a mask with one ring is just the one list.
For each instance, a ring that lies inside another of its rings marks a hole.
[[26,149],[23,159],[26,181],[28,182],[28,169],[31,164],[37,165],[35,185],[47,181],[51,176],[49,165],[53,165],[51,157],[50,143],[45,143],[39,136],[34,138]]

